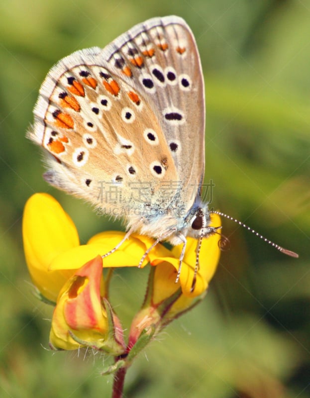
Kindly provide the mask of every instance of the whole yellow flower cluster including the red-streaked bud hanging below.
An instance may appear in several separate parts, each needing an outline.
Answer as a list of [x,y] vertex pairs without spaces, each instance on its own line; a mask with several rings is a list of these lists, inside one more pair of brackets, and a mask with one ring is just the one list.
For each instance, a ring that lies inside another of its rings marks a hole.
[[[211,226],[220,226],[218,215],[212,214]],[[80,245],[73,221],[54,198],[35,194],[28,199],[23,215],[27,266],[41,294],[53,301],[58,297],[50,333],[53,348],[90,345],[114,356],[124,353],[120,322],[105,297],[102,268],[138,266],[154,240],[133,234],[102,259],[123,237],[123,232],[102,232]],[[218,263],[219,239],[219,233],[203,239],[193,291],[196,239],[187,239],[178,283],[182,245],[168,250],[158,244],[148,253],[142,264],[152,265],[147,294],[128,337],[127,351],[136,347],[133,356],[154,333],[203,298]]]

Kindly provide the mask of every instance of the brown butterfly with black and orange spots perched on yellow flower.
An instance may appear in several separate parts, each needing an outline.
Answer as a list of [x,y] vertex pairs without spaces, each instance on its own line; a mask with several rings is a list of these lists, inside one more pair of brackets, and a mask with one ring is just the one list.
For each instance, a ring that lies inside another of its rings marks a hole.
[[196,275],[202,239],[218,228],[201,199],[204,79],[182,18],[149,19],[103,49],[59,61],[41,86],[28,137],[45,149],[48,183],[125,220],[112,251],[133,232],[156,238],[141,263],[160,241],[183,244],[178,281],[191,236]]

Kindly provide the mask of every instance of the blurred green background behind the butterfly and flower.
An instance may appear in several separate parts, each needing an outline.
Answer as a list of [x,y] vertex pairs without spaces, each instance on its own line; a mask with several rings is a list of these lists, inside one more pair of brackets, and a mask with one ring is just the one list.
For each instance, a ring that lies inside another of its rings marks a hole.
[[[109,397],[106,359],[46,350],[52,308],[32,295],[21,217],[35,192],[55,196],[81,242],[117,229],[50,188],[25,139],[49,68],[103,47],[132,25],[177,14],[192,27],[206,81],[206,182],[212,203],[276,243],[223,220],[223,252],[206,299],[140,355],[125,397],[310,397],[310,2],[307,0],[0,1],[0,397]],[[121,270],[113,305],[123,325],[146,270]]]

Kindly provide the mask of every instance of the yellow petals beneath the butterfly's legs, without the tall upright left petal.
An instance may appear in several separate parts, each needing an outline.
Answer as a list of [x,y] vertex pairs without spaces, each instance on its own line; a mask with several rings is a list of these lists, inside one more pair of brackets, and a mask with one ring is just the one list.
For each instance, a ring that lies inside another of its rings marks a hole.
[[[211,226],[220,226],[220,218],[217,214],[212,215]],[[62,269],[76,269],[77,264],[87,261],[98,253],[107,253],[114,248],[117,243],[124,237],[123,232],[105,231],[93,236],[87,245],[79,246],[67,250],[65,253],[59,254],[50,265],[51,270]],[[143,262],[144,267],[148,262],[153,266],[159,264],[167,264],[169,271],[161,283],[158,284],[159,291],[165,291],[169,285],[169,289],[177,289],[180,285],[183,294],[189,297],[200,296],[208,287],[208,282],[214,275],[219,259],[220,249],[218,241],[220,234],[213,234],[204,239],[200,251],[200,269],[197,274],[197,281],[194,292],[191,292],[194,278],[194,269],[196,264],[196,245],[197,240],[194,238],[187,238],[186,251],[182,262],[180,283],[172,284],[168,282],[167,278],[176,280],[177,271],[179,269],[179,258],[182,251],[182,245],[175,246],[172,250],[167,249],[162,244],[157,244],[154,249],[148,254]],[[137,266],[146,252],[152,245],[154,240],[147,236],[132,234],[116,252],[103,259],[103,267],[134,267]],[[71,259],[71,261],[70,261]],[[173,269],[170,267],[172,266]]]

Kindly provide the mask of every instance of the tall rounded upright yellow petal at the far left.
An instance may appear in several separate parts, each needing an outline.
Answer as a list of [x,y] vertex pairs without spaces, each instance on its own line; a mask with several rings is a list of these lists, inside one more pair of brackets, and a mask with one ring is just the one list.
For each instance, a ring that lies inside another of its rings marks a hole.
[[24,208],[22,235],[31,279],[42,295],[56,301],[72,272],[49,272],[59,253],[79,245],[77,229],[58,201],[48,194],[35,194]]

